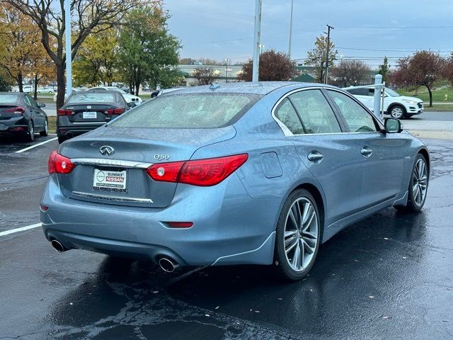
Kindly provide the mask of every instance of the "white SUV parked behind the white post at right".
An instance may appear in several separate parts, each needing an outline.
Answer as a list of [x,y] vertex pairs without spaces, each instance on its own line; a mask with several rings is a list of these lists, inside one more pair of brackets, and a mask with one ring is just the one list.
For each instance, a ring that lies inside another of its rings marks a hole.
[[[343,90],[348,91],[361,101],[369,110],[374,109],[374,89],[357,89],[355,87],[346,87]],[[384,113],[391,115],[393,118],[410,118],[413,115],[420,115],[425,108],[420,98],[401,96],[392,89],[385,89]]]

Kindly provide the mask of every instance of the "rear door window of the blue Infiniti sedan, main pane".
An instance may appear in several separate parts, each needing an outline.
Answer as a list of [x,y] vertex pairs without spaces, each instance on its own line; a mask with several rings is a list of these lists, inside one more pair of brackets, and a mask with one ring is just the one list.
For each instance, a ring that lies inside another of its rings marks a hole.
[[321,90],[304,90],[289,96],[306,133],[341,132],[340,124]]

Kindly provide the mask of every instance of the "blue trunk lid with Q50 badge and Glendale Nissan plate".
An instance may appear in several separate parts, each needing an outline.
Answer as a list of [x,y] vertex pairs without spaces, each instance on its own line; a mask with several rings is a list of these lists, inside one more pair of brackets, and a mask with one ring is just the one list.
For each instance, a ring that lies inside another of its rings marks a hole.
[[71,174],[58,175],[59,185],[65,196],[77,200],[165,208],[173,200],[177,184],[153,181],[147,167],[159,162],[188,160],[196,149],[229,140],[234,135],[236,130],[232,126],[218,129],[104,127],[60,146],[59,153],[77,166]]

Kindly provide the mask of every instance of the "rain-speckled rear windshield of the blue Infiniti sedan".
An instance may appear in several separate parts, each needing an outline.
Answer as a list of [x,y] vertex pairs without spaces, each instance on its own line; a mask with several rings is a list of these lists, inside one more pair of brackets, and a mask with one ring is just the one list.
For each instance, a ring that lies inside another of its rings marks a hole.
[[251,94],[167,94],[120,116],[116,128],[221,128],[238,120],[260,96]]

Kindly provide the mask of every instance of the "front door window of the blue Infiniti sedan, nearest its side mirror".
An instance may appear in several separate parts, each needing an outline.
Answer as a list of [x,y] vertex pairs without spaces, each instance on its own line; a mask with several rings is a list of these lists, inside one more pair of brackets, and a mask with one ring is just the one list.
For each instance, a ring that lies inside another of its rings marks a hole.
[[341,92],[331,90],[328,92],[340,108],[350,132],[375,132],[378,130],[372,115],[359,103]]

